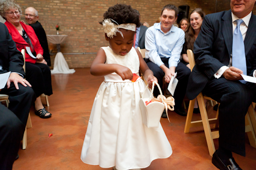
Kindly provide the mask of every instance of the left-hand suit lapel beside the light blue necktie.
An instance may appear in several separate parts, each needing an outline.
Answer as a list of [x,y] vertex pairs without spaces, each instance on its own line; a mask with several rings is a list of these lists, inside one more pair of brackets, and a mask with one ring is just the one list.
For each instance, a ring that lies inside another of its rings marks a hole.
[[232,31],[232,18],[231,10],[226,11],[222,17],[222,35],[224,37],[225,44],[227,46],[228,54],[232,52],[232,41],[233,41],[233,31]]

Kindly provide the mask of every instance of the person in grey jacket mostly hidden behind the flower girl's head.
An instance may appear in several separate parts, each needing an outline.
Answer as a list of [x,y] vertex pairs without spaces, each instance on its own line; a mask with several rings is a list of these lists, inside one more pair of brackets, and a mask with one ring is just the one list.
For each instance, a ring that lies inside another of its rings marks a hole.
[[[139,11],[138,10],[134,10],[135,12],[137,12],[139,15]],[[140,49],[144,49],[145,48],[145,34],[146,34],[146,30],[147,27],[142,26],[142,24],[140,25],[139,28],[136,28],[136,37],[134,39],[134,47],[140,47]]]

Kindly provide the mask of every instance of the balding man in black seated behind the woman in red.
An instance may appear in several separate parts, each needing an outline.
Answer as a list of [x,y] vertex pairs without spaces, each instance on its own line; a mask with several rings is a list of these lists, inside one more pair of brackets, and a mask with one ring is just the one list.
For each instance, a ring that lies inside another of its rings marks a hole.
[[38,12],[33,7],[29,7],[25,10],[25,19],[28,24],[34,29],[35,34],[44,49],[44,59],[47,62],[48,66],[51,66],[51,58],[49,53],[49,47],[46,37],[46,32],[40,22],[38,22]]

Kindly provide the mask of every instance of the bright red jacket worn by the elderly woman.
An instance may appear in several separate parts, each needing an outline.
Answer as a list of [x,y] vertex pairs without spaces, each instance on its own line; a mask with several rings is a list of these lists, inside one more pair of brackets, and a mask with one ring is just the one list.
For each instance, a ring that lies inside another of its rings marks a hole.
[[[26,31],[27,35],[29,36],[29,38],[30,38],[30,40],[33,44],[34,51],[36,52],[36,54],[43,55],[44,50],[42,49],[42,47],[40,45],[40,42],[39,42],[33,28],[31,26],[25,25],[25,23],[23,23],[23,22],[19,22],[19,23],[22,25],[23,29]],[[29,46],[29,45],[23,39],[23,37],[19,34],[18,30],[8,21],[5,22],[5,25],[8,28],[9,33],[12,36],[13,41],[16,43],[18,51],[22,51],[22,49],[26,50],[26,46]],[[32,53],[34,52],[34,51],[32,51],[31,47],[30,47],[30,50],[31,50]],[[28,53],[25,53],[25,61],[34,64],[36,62],[36,59],[30,57],[30,55]]]

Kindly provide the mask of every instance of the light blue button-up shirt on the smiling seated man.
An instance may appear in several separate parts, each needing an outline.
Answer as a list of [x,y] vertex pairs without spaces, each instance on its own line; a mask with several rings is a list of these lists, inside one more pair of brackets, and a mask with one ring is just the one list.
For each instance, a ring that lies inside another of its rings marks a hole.
[[161,23],[155,23],[146,31],[145,58],[149,58],[159,67],[164,64],[161,57],[169,58],[169,67],[177,67],[184,42],[185,33],[180,28],[172,26],[167,33],[164,33],[161,30]]

